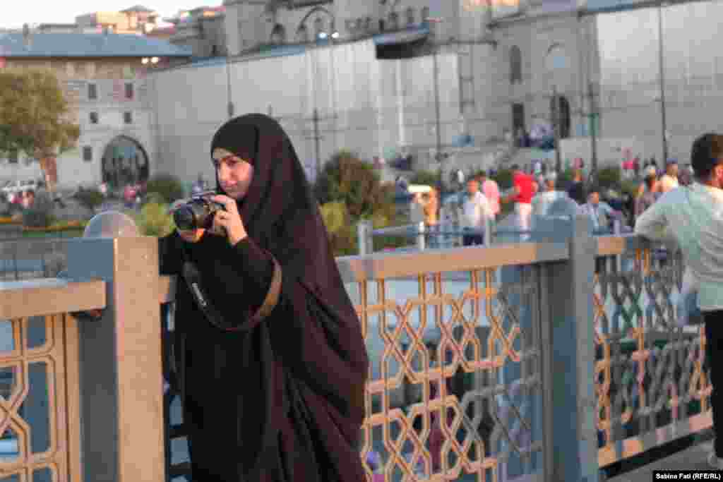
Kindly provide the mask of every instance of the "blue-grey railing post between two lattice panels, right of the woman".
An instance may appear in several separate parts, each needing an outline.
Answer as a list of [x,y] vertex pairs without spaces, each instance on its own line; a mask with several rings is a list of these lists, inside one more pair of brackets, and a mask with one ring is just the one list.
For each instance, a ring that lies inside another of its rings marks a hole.
[[[574,216],[568,226],[569,259],[542,264],[539,280],[544,480],[597,482],[593,324],[597,244],[587,216]],[[562,223],[556,229],[562,230]]]

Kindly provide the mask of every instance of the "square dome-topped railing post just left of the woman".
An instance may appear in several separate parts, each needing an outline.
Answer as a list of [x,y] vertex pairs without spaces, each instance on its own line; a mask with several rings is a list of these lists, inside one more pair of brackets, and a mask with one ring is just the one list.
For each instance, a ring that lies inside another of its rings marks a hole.
[[85,481],[166,480],[158,239],[134,230],[105,212],[67,246],[66,277],[108,289],[102,317],[79,324]]

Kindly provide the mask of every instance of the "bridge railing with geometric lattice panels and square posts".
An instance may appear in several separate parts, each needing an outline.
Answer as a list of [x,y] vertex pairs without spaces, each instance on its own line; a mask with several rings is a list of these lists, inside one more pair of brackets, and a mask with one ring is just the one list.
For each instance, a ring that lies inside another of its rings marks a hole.
[[[594,481],[710,426],[703,332],[675,323],[680,258],[587,223],[564,242],[338,258],[371,361],[367,480]],[[0,283],[0,474],[187,476],[175,280],[158,275],[157,240],[70,240],[67,267],[72,282]]]

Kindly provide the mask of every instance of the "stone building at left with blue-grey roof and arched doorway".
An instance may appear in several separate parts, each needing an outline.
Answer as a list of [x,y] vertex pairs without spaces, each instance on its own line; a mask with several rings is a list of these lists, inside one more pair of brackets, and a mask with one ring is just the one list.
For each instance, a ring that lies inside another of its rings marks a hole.
[[[10,40],[0,39],[5,42],[0,64],[7,69],[51,69],[69,101],[70,116],[80,125],[76,149],[56,160],[58,186],[147,178],[157,165],[155,92],[147,72],[168,65],[170,59],[188,58],[189,53],[168,43],[147,43],[137,35],[121,40],[108,34],[107,41],[98,42],[104,35],[38,33],[30,34],[25,44],[22,34],[14,35]],[[16,47],[9,48],[10,43]],[[106,51],[93,52],[89,46],[94,43]],[[50,50],[51,45],[58,54]],[[154,58],[155,62],[150,60]],[[24,153],[0,159],[0,180],[40,176],[38,162]]]

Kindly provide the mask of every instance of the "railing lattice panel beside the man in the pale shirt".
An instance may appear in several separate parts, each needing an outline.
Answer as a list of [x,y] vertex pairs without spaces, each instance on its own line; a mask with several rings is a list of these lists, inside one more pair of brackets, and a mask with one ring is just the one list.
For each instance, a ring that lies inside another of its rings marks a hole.
[[[682,275],[680,255],[665,251],[636,249],[598,259],[594,383],[600,466],[711,424],[705,332],[702,325],[677,324]],[[673,423],[675,431],[656,433]]]

